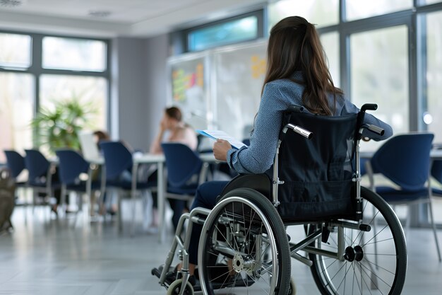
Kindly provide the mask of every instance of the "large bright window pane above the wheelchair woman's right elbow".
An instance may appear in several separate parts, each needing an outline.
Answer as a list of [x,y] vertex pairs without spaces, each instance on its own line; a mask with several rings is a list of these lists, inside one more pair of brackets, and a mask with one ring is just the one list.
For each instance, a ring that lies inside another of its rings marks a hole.
[[[350,36],[351,100],[359,108],[377,103],[375,115],[395,134],[409,130],[407,26],[382,28]],[[370,141],[362,148],[375,150]]]

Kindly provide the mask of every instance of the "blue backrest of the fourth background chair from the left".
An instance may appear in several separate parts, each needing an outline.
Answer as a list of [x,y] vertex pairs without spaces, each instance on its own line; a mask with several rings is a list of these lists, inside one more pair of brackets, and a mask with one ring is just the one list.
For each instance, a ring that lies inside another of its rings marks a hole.
[[106,166],[106,179],[114,180],[132,167],[132,154],[121,141],[102,141],[100,148],[103,152]]

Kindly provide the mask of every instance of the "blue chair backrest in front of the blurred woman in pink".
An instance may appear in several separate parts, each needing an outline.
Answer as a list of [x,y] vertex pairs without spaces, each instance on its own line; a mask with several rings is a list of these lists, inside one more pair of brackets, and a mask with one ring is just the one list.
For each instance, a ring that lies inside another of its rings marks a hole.
[[185,185],[201,171],[203,161],[189,146],[178,143],[163,143],[161,146],[166,158],[167,182],[172,187]]

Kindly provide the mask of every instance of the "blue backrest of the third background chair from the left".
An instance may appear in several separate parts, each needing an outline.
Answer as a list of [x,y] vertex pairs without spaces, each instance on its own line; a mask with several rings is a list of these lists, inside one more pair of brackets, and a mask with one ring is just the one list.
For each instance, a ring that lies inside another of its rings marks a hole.
[[89,163],[83,156],[72,149],[59,149],[55,151],[59,158],[59,178],[61,183],[71,185],[78,181],[81,173],[87,173]]

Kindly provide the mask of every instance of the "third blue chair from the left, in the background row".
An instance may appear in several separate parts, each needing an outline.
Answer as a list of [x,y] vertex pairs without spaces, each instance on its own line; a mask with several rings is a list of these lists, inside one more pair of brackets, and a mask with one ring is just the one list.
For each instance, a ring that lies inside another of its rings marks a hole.
[[[91,214],[95,204],[95,192],[100,191],[100,181],[92,181],[92,167],[83,156],[72,149],[59,149],[56,152],[59,158],[59,178],[61,183],[61,204],[66,204],[65,197],[68,192],[76,192],[79,196],[78,210],[83,205],[81,195],[90,197]],[[81,180],[80,175],[88,174],[87,180]]]

